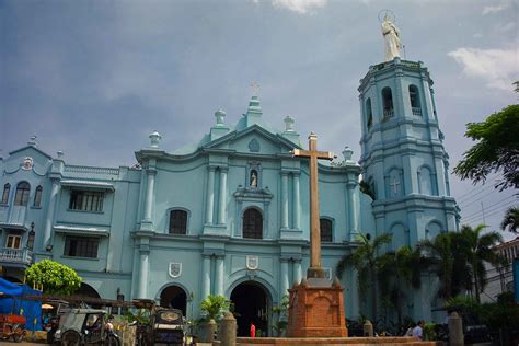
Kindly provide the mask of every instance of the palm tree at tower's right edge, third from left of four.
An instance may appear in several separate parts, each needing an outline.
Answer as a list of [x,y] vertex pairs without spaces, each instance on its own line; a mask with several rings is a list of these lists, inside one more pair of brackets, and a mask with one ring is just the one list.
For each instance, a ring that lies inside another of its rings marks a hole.
[[432,261],[440,280],[438,296],[446,300],[452,298],[452,274],[454,268],[454,254],[452,252],[452,233],[439,233],[434,240],[419,241],[417,247]]

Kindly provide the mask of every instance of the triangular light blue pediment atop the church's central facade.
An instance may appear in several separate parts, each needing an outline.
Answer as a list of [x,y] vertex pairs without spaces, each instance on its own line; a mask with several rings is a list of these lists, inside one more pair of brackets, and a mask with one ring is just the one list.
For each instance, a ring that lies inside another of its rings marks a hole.
[[250,126],[243,130],[232,131],[204,146],[204,149],[232,150],[252,154],[288,153],[295,148],[299,148],[299,146],[258,125]]

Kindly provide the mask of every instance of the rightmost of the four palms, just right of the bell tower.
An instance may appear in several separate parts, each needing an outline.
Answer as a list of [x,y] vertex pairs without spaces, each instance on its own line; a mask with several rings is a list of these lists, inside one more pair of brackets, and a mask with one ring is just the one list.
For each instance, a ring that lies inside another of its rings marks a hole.
[[461,232],[457,237],[464,246],[469,266],[474,282],[475,298],[480,302],[480,292],[483,291],[486,285],[486,269],[485,262],[494,266],[501,264],[501,257],[493,247],[503,242],[503,237],[496,231],[482,234],[486,228],[485,224],[478,224],[475,229],[464,224],[461,227]]

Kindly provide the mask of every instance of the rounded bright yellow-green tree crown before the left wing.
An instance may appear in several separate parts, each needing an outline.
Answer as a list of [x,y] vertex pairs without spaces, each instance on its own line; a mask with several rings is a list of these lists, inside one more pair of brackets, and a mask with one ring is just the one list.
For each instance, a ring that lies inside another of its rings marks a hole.
[[72,295],[81,286],[74,269],[50,260],[43,260],[25,270],[30,286],[41,286],[47,295]]

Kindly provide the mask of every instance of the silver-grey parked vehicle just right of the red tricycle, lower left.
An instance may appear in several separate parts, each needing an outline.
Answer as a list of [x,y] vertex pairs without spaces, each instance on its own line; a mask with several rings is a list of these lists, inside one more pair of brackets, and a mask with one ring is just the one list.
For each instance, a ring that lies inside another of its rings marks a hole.
[[118,336],[112,331],[105,310],[71,309],[65,313],[55,333],[55,343],[62,346],[106,345],[119,346]]

